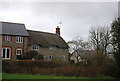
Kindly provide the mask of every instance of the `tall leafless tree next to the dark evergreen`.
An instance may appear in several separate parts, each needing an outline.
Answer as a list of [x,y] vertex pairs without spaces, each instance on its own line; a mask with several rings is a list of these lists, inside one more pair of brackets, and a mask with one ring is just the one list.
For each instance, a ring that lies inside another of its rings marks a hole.
[[110,27],[92,27],[89,31],[90,41],[96,49],[97,53],[102,51],[106,52],[107,46],[110,44]]

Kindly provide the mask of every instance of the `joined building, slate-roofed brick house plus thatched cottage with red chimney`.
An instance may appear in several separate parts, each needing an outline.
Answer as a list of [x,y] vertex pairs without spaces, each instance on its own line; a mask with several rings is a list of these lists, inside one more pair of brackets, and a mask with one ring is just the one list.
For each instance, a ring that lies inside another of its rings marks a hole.
[[2,59],[16,60],[27,51],[38,51],[45,60],[61,59],[68,61],[68,45],[60,36],[57,26],[56,34],[26,30],[24,24],[0,22],[0,55]]

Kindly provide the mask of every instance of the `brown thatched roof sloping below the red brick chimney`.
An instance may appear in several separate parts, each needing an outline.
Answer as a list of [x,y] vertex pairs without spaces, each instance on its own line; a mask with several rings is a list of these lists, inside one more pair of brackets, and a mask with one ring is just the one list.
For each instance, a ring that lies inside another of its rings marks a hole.
[[59,35],[47,32],[28,30],[30,44],[39,44],[42,47],[56,46],[68,48],[67,43]]

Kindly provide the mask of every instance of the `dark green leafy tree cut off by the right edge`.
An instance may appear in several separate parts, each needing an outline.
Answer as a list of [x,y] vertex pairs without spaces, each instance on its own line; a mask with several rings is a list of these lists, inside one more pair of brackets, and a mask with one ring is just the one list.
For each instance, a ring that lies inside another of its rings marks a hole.
[[114,47],[114,57],[120,68],[120,18],[113,20],[111,25],[112,44]]

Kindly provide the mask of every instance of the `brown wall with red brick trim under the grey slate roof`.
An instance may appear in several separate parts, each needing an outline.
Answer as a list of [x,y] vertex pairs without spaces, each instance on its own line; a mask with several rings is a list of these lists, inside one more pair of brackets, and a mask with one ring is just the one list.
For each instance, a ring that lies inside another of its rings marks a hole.
[[2,47],[10,47],[12,60],[16,59],[16,49],[21,48],[22,54],[28,50],[28,37],[23,37],[23,43],[16,43],[16,36],[11,36],[11,41],[5,41],[5,36],[2,36]]

